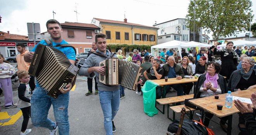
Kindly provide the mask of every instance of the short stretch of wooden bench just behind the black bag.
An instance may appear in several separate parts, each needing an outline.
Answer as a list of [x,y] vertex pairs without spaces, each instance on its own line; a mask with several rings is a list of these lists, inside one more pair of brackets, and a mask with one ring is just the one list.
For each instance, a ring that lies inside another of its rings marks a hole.
[[[196,109],[185,106],[185,105],[177,105],[177,106],[170,106],[169,107],[171,110],[173,110],[173,119],[169,118],[169,112],[168,112],[168,119],[170,119],[171,121],[175,121],[175,113],[180,113],[180,110],[182,110],[182,108],[185,108],[185,114],[187,114],[189,116],[189,119],[192,120],[193,118],[193,113]],[[168,108],[168,110],[169,110]]]

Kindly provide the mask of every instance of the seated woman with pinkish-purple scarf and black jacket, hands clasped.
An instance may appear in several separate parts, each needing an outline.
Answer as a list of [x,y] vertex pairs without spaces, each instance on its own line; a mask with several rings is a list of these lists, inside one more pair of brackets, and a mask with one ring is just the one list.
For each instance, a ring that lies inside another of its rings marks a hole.
[[[203,98],[206,96],[213,96],[214,93],[223,94],[227,93],[226,80],[218,74],[221,70],[220,64],[217,62],[210,62],[207,68],[207,73],[199,76],[194,98]],[[204,120],[204,126],[208,127],[210,119],[213,114],[206,113],[206,118]],[[225,125],[228,117],[221,118],[220,125],[221,128],[227,132],[227,126]]]

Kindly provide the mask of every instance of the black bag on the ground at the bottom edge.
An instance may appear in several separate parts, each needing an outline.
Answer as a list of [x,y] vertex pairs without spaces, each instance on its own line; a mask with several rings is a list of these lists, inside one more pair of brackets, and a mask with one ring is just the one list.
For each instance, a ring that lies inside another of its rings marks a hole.
[[[179,121],[175,120],[167,129],[168,132],[177,133]],[[181,135],[208,135],[206,127],[195,124],[192,120],[184,120]]]

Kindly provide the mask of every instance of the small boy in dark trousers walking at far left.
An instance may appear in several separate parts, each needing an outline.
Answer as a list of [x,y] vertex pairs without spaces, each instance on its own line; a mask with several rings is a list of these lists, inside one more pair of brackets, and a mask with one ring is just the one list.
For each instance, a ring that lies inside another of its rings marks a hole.
[[19,84],[18,88],[18,96],[19,101],[17,108],[20,108],[23,115],[23,122],[21,126],[21,135],[27,135],[31,132],[31,129],[27,129],[28,121],[30,117],[30,99],[31,99],[31,89],[29,87],[29,80],[30,76],[28,74],[28,71],[19,71],[17,73],[17,76],[19,78],[19,81],[21,83]]

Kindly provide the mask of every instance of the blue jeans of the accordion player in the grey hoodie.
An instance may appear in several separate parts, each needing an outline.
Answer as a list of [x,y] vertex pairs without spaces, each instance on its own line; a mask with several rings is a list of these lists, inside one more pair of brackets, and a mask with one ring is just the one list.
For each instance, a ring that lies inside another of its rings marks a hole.
[[112,120],[119,109],[120,97],[117,91],[99,90],[100,105],[104,115],[104,128],[106,135],[112,135]]

